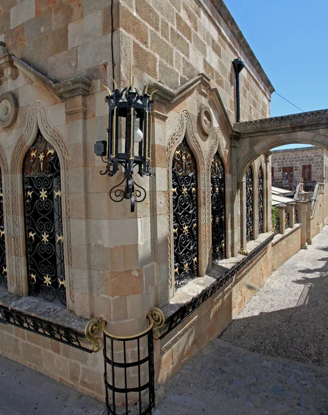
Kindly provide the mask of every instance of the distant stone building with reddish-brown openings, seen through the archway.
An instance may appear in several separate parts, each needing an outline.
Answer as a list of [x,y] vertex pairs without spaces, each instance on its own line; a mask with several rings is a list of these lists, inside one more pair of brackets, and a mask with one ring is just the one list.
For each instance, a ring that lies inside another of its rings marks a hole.
[[[271,179],[293,183],[298,178],[304,182],[327,179],[328,152],[320,147],[273,150],[271,155]],[[295,179],[295,180],[294,180]]]

